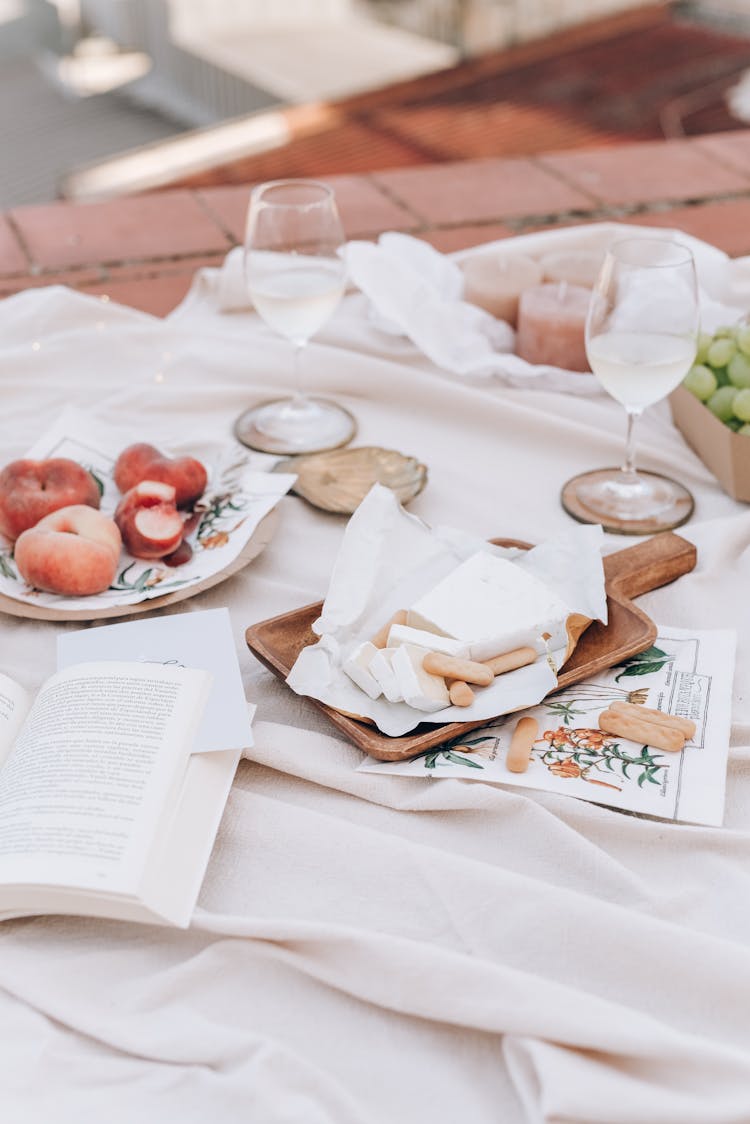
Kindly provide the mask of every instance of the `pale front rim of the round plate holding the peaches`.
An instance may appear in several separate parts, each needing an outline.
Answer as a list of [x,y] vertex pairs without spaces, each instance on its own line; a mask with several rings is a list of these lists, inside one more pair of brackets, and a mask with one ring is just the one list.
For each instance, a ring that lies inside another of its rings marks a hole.
[[[271,542],[279,522],[279,513],[271,508],[255,527],[240,554],[232,562],[228,562],[223,570],[213,573],[209,578],[196,582],[195,586],[186,586],[182,589],[174,589],[171,593],[162,597],[150,597],[135,605],[103,605],[100,609],[64,609],[53,608],[48,605],[31,605],[29,601],[17,601],[15,597],[7,597],[0,593],[0,613],[7,613],[11,617],[28,617],[31,620],[105,620],[108,617],[132,617],[136,613],[150,613],[152,609],[162,609],[165,605],[174,605],[175,601],[184,601],[188,597],[202,593],[205,589],[217,586],[232,577],[254,558],[265,550]],[[177,572],[177,571],[175,571]]]

